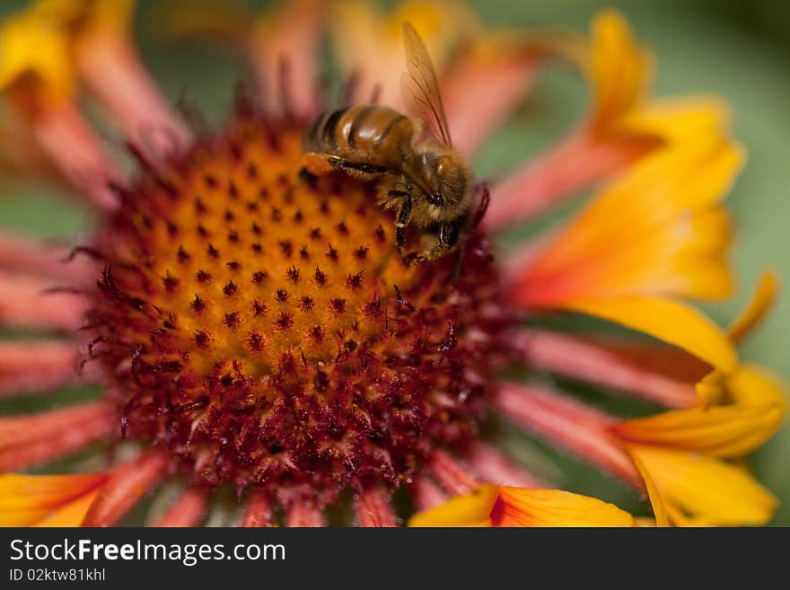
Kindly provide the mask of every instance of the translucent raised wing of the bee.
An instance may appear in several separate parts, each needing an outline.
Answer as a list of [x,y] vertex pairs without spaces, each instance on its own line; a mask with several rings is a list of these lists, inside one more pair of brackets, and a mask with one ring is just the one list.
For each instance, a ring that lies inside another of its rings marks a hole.
[[434,64],[426,44],[409,22],[403,23],[403,47],[407,70],[400,78],[403,101],[408,110],[426,120],[438,141],[452,145]]

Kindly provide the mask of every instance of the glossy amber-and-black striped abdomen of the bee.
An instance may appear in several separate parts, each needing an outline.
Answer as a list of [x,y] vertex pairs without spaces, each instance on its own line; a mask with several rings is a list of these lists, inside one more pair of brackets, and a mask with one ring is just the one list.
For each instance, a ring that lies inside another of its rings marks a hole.
[[310,152],[398,169],[411,154],[414,124],[397,110],[358,105],[322,114],[305,136]]

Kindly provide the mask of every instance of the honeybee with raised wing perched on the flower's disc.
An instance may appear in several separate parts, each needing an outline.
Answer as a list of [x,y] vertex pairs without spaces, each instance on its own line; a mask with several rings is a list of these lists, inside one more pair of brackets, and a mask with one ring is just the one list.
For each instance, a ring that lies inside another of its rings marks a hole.
[[[452,146],[426,45],[408,22],[403,23],[403,45],[406,71],[401,85],[417,120],[376,104],[327,111],[304,137],[305,161],[318,158],[329,169],[356,178],[380,178],[379,204],[397,210],[396,242],[402,248],[407,226],[415,225],[424,230],[428,244],[417,258],[434,260],[451,251],[469,226],[475,181],[465,158]],[[320,166],[306,168],[313,172]]]

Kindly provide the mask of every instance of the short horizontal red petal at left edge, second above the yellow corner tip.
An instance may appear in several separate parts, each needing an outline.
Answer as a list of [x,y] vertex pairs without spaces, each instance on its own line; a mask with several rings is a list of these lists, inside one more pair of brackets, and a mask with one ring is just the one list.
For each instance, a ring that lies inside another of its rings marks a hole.
[[80,381],[78,352],[69,340],[0,342],[0,398]]

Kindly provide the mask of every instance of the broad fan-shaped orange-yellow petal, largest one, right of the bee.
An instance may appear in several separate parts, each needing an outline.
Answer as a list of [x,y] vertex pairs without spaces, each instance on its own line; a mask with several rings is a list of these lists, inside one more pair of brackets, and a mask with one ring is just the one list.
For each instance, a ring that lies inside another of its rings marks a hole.
[[717,203],[741,164],[720,136],[645,156],[513,270],[513,298],[562,308],[613,295],[728,295],[732,235]]

